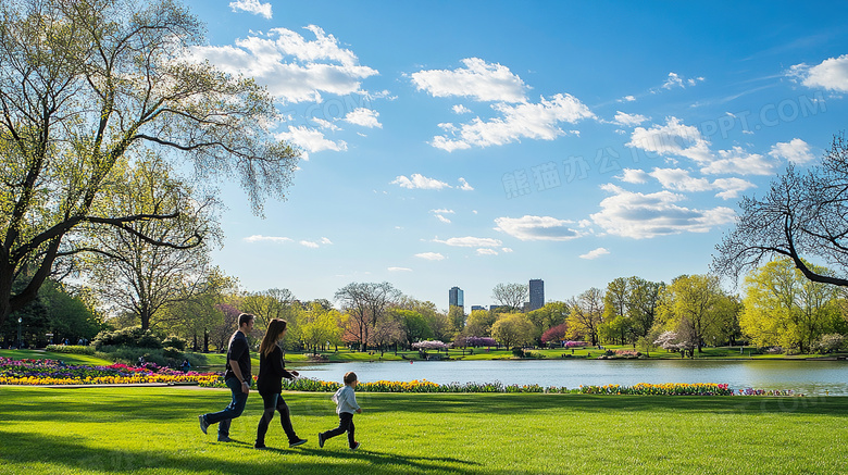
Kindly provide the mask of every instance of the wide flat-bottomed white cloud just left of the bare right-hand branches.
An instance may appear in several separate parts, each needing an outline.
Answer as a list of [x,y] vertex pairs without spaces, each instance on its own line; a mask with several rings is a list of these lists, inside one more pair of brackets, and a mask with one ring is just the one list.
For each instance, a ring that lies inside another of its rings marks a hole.
[[707,233],[735,218],[729,208],[696,210],[681,207],[676,203],[684,197],[671,191],[644,195],[611,184],[601,188],[612,196],[604,198],[600,202],[601,211],[590,217],[615,236],[645,239],[681,233]]

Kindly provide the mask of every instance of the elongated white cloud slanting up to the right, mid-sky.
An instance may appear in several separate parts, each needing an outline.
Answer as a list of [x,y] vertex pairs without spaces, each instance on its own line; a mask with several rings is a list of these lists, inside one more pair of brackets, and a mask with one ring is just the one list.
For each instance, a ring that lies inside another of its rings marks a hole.
[[471,123],[459,127],[453,124],[440,124],[444,129],[458,136],[436,136],[433,147],[453,151],[474,147],[502,146],[522,138],[553,140],[565,134],[559,124],[575,124],[583,118],[595,117],[575,97],[558,93],[550,99],[540,98],[538,103],[519,104],[496,103],[491,108],[501,114],[490,121],[475,117]]

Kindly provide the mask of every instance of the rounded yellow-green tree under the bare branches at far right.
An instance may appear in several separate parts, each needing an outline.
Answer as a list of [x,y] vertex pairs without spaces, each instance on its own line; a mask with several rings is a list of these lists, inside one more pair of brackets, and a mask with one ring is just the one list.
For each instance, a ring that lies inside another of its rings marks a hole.
[[[828,271],[806,263],[816,274]],[[838,287],[807,279],[793,261],[772,261],[745,279],[743,333],[761,347],[781,346],[809,352],[822,335],[843,322]]]

